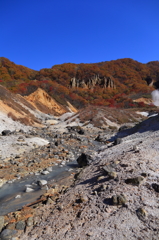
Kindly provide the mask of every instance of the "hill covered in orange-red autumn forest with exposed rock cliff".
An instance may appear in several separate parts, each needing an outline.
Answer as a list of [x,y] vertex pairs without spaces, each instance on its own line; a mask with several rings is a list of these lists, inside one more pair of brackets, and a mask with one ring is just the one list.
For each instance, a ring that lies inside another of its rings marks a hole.
[[[87,104],[136,107],[136,94],[149,94],[159,80],[159,64],[126,58],[95,64],[65,63],[34,71],[0,58],[0,82],[15,93],[29,95],[44,89],[58,103],[77,108]],[[149,96],[149,95],[148,95]]]

